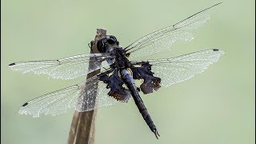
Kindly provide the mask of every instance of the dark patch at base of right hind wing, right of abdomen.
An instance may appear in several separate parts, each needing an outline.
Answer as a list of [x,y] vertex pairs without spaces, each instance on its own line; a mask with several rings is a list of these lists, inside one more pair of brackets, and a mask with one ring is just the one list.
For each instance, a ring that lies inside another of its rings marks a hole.
[[149,62],[134,63],[130,69],[133,72],[134,79],[143,80],[142,85],[140,86],[143,94],[153,93],[154,90],[156,91],[161,87],[161,78],[154,77]]

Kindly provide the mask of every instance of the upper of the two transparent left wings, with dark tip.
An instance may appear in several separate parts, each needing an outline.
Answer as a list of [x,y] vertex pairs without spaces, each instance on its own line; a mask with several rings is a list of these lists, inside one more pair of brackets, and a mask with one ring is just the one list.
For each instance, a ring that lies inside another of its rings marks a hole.
[[[101,67],[101,62],[109,58],[109,54],[81,54],[58,60],[14,62],[9,66],[12,70],[23,73],[48,74],[52,78],[73,79],[88,74]],[[91,61],[88,70],[89,61]]]

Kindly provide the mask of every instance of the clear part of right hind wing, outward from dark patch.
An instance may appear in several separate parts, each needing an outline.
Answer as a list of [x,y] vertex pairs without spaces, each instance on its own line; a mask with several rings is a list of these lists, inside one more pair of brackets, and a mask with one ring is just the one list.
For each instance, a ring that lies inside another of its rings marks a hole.
[[174,58],[149,60],[149,62],[154,76],[161,78],[162,85],[167,87],[202,73],[210,64],[217,62],[222,54],[224,51],[218,49],[202,50]]

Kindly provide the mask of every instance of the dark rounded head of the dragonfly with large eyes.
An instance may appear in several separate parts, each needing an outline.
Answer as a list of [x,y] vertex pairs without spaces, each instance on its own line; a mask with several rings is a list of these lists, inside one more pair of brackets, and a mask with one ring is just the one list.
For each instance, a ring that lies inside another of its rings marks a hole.
[[98,51],[101,53],[109,53],[114,50],[114,47],[118,47],[119,42],[114,35],[106,35],[97,42]]

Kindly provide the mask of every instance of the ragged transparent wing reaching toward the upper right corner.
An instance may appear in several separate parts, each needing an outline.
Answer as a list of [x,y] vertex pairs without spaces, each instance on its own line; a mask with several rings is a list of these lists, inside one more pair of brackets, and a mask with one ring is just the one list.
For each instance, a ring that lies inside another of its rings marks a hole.
[[[219,4],[221,3],[214,6],[218,6]],[[191,15],[173,26],[168,26],[151,34],[147,34],[125,49],[127,52],[131,53],[130,58],[138,58],[168,51],[172,44],[178,40],[190,41],[193,37],[187,30],[195,30],[206,23],[206,21],[210,19],[209,11],[214,6],[210,6],[197,14]]]

